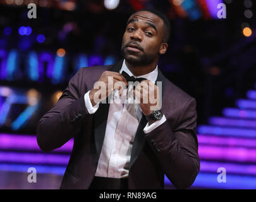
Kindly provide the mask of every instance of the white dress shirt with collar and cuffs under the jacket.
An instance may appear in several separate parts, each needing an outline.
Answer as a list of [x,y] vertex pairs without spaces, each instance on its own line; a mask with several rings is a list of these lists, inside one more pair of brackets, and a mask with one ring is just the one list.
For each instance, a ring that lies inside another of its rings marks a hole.
[[[134,76],[127,68],[125,60],[119,73],[125,71],[130,76]],[[137,76],[137,78],[146,78],[147,80],[155,83],[157,79],[158,68],[154,71]],[[135,76],[136,78],[136,76]],[[130,88],[132,86],[130,85]],[[130,89],[129,88],[129,89]],[[89,92],[85,93],[85,106],[89,114],[94,114],[99,108],[99,104],[92,106],[90,102]],[[124,93],[127,93],[126,89]],[[98,177],[113,177],[124,178],[128,177],[129,165],[131,158],[131,148],[138,128],[138,124],[142,117],[142,110],[139,104],[130,104],[130,98],[119,97],[118,90],[114,90],[114,100],[116,98],[126,99],[122,102],[113,102],[109,104],[109,114],[107,117],[107,126],[104,142],[102,145],[101,155],[97,165],[95,176]],[[135,97],[136,99],[136,97]],[[125,102],[124,102],[125,101]],[[152,130],[160,126],[166,121],[163,116],[161,120],[155,121],[149,126],[149,123],[143,129],[145,134],[150,133]]]

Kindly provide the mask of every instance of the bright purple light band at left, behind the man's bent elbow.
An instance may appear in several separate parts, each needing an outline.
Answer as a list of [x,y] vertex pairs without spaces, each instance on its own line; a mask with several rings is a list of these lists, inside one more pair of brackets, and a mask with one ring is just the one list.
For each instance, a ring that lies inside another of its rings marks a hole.
[[[71,152],[73,139],[54,151]],[[36,136],[0,133],[0,149],[40,151]]]

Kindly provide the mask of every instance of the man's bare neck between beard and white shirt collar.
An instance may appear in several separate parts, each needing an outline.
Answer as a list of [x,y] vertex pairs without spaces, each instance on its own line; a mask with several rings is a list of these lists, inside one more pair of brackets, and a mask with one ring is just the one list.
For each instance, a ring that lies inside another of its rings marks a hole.
[[125,64],[134,76],[142,76],[154,71],[155,67],[157,66],[157,61],[154,61],[145,66],[135,66],[128,61],[125,61]]

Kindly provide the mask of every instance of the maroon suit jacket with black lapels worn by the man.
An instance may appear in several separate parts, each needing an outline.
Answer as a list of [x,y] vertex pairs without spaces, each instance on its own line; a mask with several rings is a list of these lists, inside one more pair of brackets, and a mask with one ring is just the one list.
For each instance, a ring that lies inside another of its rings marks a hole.
[[[43,151],[52,151],[74,138],[61,189],[87,189],[94,178],[109,104],[100,104],[95,114],[88,114],[84,95],[104,71],[118,72],[122,64],[119,61],[81,68],[37,125],[37,143]],[[164,189],[164,174],[176,188],[185,189],[199,172],[195,99],[166,79],[160,70],[157,81],[162,81],[162,112],[167,121],[145,134],[147,121],[142,116],[131,151],[129,189]]]

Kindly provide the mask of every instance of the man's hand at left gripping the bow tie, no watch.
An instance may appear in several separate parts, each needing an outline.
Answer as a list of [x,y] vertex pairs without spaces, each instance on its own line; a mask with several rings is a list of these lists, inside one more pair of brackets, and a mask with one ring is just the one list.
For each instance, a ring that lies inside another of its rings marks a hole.
[[105,100],[115,89],[123,92],[123,88],[127,85],[128,82],[122,74],[114,71],[104,71],[99,81],[94,84],[94,88],[90,90],[89,97],[92,106]]

